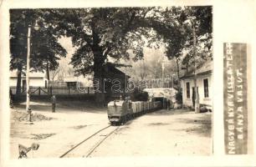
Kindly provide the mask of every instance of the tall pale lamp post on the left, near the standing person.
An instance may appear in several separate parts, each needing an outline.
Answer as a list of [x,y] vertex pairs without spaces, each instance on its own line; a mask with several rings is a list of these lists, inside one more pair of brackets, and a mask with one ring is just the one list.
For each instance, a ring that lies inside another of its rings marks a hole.
[[27,102],[26,111],[28,112],[28,121],[31,122],[31,109],[29,109],[30,90],[29,90],[29,70],[30,70],[30,38],[31,38],[31,25],[28,26],[28,53],[27,53],[27,71],[26,71],[26,85],[27,85]]

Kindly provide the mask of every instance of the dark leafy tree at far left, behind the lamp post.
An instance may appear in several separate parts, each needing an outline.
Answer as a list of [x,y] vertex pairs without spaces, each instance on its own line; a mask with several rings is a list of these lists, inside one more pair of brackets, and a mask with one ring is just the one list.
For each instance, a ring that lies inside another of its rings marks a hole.
[[20,94],[21,75],[26,67],[28,25],[38,23],[39,29],[32,31],[30,67],[33,71],[58,68],[57,60],[65,57],[66,50],[58,43],[64,35],[62,23],[64,13],[54,9],[11,9],[10,10],[10,69],[18,70],[17,94]]

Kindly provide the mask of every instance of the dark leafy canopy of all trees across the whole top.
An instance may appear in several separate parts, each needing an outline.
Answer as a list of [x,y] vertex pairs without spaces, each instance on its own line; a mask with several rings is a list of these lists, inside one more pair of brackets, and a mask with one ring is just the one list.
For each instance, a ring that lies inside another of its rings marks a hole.
[[212,46],[211,7],[22,9],[10,13],[11,69],[25,67],[28,25],[37,22],[41,28],[32,32],[33,70],[58,68],[57,60],[66,54],[58,38],[66,35],[77,48],[71,58],[76,73],[94,73],[100,91],[106,64],[120,67],[125,65],[120,59],[141,59],[145,46],[166,43],[166,56],[179,63],[184,49],[192,47],[192,28],[197,29],[198,43],[202,40],[203,46]]

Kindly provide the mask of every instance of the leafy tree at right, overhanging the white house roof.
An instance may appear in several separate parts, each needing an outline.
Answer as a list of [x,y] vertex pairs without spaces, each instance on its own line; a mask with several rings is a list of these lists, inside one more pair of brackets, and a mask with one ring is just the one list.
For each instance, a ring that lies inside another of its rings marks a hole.
[[[209,57],[212,57],[212,7],[173,8],[172,14],[166,14],[164,22],[168,23],[170,18],[177,20],[177,32],[174,38],[166,36],[166,56],[176,60],[177,76],[180,78],[181,61],[186,68],[192,61],[193,28],[196,29],[197,50],[204,49],[205,52],[210,53]],[[186,52],[186,56],[183,57]],[[203,57],[205,54],[200,54],[200,56]]]

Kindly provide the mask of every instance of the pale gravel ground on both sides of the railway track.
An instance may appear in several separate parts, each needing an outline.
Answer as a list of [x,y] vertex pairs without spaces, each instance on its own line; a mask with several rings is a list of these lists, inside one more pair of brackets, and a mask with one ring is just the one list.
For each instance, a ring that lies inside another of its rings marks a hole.
[[[33,124],[27,124],[25,104],[11,109],[11,158],[18,158],[18,144],[39,149],[28,158],[58,158],[97,130],[109,125],[105,108],[62,101],[56,113],[47,102],[31,102]],[[129,121],[111,134],[91,157],[212,154],[211,113],[161,110]],[[83,150],[81,150],[83,152]],[[76,154],[79,157],[79,154]]]

